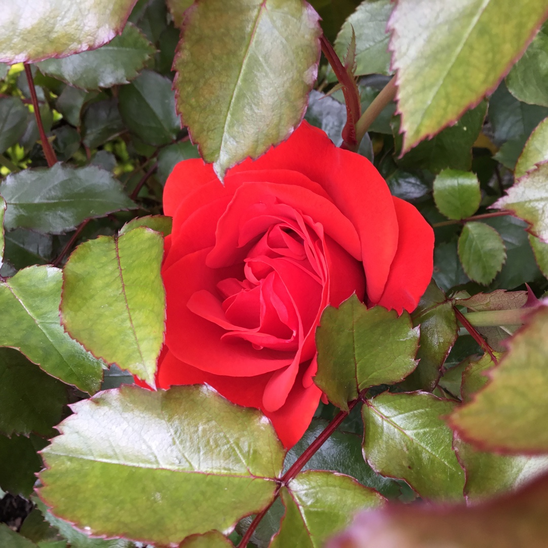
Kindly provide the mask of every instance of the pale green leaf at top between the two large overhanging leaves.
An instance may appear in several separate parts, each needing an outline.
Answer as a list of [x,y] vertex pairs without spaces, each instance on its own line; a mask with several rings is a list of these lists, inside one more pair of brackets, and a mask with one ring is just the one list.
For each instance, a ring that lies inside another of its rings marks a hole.
[[335,52],[344,59],[352,30],[356,36],[357,76],[366,74],[390,74],[390,35],[386,23],[392,13],[390,0],[364,0],[344,22],[335,40]]

